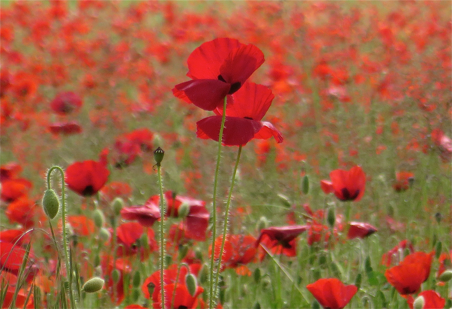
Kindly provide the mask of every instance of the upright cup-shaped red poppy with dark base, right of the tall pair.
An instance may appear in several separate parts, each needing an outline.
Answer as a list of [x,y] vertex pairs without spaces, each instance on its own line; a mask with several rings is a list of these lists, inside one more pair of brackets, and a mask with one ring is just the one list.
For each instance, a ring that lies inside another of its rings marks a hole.
[[366,186],[366,174],[361,166],[354,166],[349,171],[334,170],[330,172],[334,194],[341,201],[361,200]]

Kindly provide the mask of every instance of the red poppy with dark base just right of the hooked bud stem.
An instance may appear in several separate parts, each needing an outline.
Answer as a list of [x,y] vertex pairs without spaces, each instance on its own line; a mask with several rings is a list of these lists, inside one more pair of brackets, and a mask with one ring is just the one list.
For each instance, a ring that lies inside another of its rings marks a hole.
[[108,181],[110,172],[101,162],[87,160],[75,162],[66,168],[66,183],[82,196],[96,194]]

